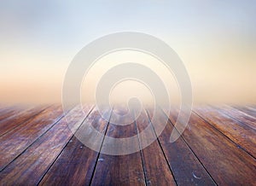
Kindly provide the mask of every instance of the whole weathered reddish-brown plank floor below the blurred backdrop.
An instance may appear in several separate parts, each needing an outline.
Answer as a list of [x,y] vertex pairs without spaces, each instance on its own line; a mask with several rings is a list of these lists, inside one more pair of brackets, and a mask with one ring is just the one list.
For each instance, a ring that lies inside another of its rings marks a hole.
[[[109,137],[131,137],[152,125],[155,135],[150,111],[125,126],[102,121],[90,106],[85,115],[75,108],[69,113],[73,129],[85,123]],[[0,106],[0,184],[256,185],[255,106],[195,107],[182,137],[171,143],[177,113],[172,109],[165,130],[148,148],[113,156],[79,142],[61,106]],[[138,135],[138,148],[142,140]]]

